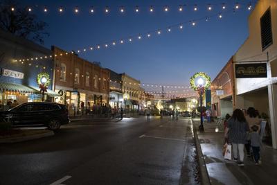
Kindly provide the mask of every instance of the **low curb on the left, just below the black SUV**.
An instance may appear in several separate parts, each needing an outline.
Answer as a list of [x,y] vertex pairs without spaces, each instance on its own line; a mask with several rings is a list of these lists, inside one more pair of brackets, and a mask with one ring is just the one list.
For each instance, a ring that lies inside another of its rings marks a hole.
[[0,139],[0,143],[19,143],[22,141],[28,141],[28,140],[32,140],[32,139],[40,139],[46,136],[53,136],[54,132],[50,131],[50,132],[46,132],[46,133],[42,133],[42,134],[34,134],[34,135],[30,135],[30,136],[18,136],[18,137],[13,137],[13,138],[5,138],[5,139]]

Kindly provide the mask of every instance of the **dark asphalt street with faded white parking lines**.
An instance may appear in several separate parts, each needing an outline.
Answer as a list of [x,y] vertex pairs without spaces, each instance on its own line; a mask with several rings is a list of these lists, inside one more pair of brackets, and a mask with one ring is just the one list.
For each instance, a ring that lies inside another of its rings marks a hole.
[[0,145],[0,184],[195,184],[192,142],[186,119],[80,121]]

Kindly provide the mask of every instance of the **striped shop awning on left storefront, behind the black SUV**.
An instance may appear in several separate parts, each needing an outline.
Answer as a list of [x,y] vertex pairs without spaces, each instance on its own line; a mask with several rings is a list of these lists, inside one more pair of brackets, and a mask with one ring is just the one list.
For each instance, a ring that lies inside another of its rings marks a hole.
[[14,91],[19,93],[35,93],[36,90],[25,85],[12,84],[12,83],[0,83],[1,91]]

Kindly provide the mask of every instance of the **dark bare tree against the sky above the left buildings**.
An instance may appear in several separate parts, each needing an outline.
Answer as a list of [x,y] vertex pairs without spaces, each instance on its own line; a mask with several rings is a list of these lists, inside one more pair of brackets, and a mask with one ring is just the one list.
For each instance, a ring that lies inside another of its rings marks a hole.
[[33,39],[40,44],[44,44],[44,36],[49,36],[49,33],[44,31],[46,26],[48,26],[46,22],[37,21],[35,14],[29,12],[26,8],[21,8],[15,1],[0,1],[1,29],[19,37]]

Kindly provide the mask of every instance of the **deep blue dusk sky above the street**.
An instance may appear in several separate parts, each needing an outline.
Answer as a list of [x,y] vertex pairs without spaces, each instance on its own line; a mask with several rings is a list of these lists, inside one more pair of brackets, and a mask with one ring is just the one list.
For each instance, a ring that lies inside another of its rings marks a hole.
[[[226,10],[222,11],[222,3],[226,3]],[[208,73],[215,78],[217,73],[228,62],[229,58],[237,51],[244,40],[247,39],[247,10],[249,1],[240,2],[240,9],[233,13],[237,1],[21,1],[21,5],[38,5],[34,12],[37,17],[48,24],[47,31],[50,37],[45,38],[45,46],[58,46],[71,51],[83,49],[86,46],[109,44],[107,49],[87,51],[80,53],[80,57],[89,61],[101,62],[102,67],[107,67],[118,73],[127,73],[145,83],[163,85],[188,85],[190,76],[198,71]],[[197,4],[198,9],[193,11],[193,6],[185,6],[183,12],[178,11],[179,4]],[[217,3],[213,10],[208,11],[208,3]],[[242,4],[243,3],[243,4]],[[48,12],[43,12],[44,6]],[[134,12],[135,6],[140,12]],[[149,7],[154,7],[150,13]],[[62,6],[64,12],[60,14],[58,8]],[[75,6],[80,12],[73,13]],[[93,15],[89,8],[95,7]],[[105,14],[105,6],[109,6],[109,14]],[[120,6],[125,7],[125,12],[119,12]],[[163,6],[168,6],[168,12],[163,11]],[[196,26],[184,24],[184,29],[172,28],[170,33],[162,30],[161,35],[152,34],[151,38],[140,33],[150,30],[166,28],[201,17],[217,15],[222,12],[222,19],[217,16],[209,21],[197,21]],[[224,13],[226,12],[226,13]],[[117,43],[111,46],[112,40],[117,42],[130,35],[133,42],[127,44]],[[102,46],[103,48],[103,46]]]

